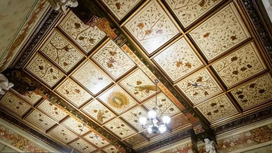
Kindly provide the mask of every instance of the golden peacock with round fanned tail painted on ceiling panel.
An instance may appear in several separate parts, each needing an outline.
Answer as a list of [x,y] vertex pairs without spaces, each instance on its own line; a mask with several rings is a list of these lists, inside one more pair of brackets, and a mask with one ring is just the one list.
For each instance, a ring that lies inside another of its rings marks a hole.
[[113,92],[108,97],[108,103],[110,104],[110,106],[114,108],[122,109],[123,107],[126,107],[129,105],[129,99],[123,93]]

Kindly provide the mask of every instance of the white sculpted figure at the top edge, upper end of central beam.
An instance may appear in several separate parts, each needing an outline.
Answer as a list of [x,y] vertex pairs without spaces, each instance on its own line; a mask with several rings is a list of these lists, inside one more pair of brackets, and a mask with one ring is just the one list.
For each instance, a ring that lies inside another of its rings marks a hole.
[[78,6],[77,0],[47,0],[54,10],[60,11],[62,14],[66,14],[66,6],[76,7]]

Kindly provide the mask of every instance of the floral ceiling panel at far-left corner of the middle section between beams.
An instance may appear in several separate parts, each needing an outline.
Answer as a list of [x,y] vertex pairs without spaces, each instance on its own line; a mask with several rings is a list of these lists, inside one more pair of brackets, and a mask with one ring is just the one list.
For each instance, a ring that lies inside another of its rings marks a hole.
[[53,87],[63,77],[60,71],[38,55],[31,60],[26,69],[50,87]]

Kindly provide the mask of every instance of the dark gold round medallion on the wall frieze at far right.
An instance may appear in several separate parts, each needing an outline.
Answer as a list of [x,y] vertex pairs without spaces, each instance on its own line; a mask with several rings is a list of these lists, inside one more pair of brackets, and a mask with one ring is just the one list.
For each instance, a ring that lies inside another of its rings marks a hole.
[[252,131],[252,138],[257,142],[267,142],[271,140],[272,134],[268,127],[259,127]]

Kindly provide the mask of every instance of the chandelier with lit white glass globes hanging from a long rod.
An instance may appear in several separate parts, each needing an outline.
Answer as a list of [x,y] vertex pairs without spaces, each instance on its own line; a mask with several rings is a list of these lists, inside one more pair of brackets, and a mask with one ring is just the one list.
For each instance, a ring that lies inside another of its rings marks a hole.
[[158,120],[156,119],[156,110],[157,110],[157,84],[159,83],[159,80],[155,80],[156,83],[156,98],[155,98],[155,109],[154,110],[150,110],[148,112],[148,116],[151,120],[151,125],[146,125],[147,122],[147,118],[145,117],[140,117],[139,118],[139,122],[142,125],[142,128],[147,129],[147,131],[150,134],[157,134],[158,132],[160,132],[162,135],[164,134],[164,132],[166,131],[166,125],[170,122],[170,117],[168,116],[163,116],[162,117],[162,125],[157,125]]

